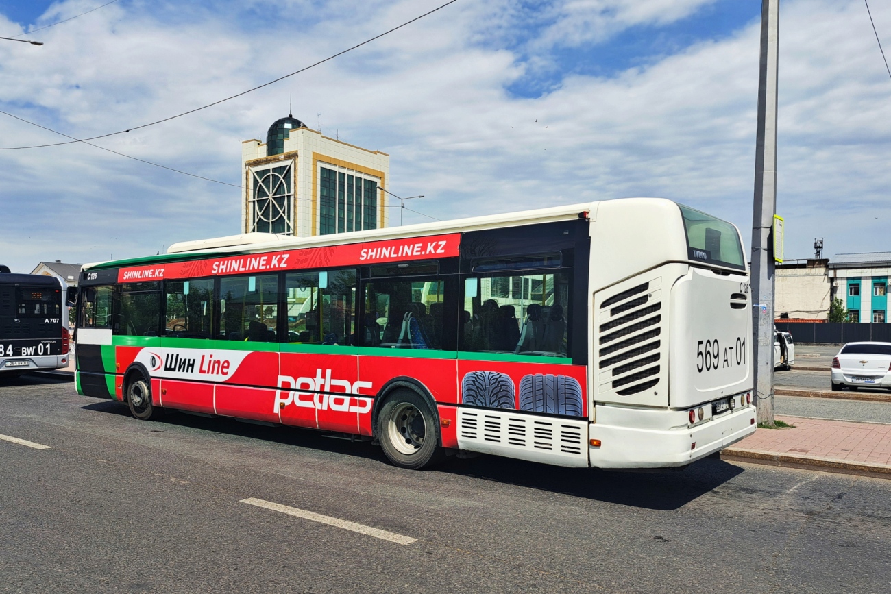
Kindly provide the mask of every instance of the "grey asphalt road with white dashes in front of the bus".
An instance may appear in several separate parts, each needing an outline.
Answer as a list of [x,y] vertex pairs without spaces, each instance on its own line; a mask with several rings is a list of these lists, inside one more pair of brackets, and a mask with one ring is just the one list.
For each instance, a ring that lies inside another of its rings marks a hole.
[[51,447],[0,440],[0,592],[824,594],[891,581],[891,481],[716,459],[666,474],[486,456],[406,471],[370,443],[309,431],[137,421],[69,382],[0,381],[0,404],[0,434]]

